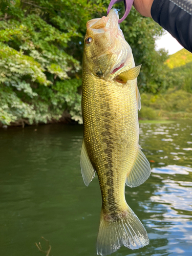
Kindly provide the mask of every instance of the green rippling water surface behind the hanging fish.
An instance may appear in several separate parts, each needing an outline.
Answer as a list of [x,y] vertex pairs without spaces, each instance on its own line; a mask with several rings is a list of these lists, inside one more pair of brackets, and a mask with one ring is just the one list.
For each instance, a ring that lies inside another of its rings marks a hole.
[[[96,255],[101,196],[97,177],[83,184],[81,141],[82,126],[0,130],[0,255],[43,255],[41,236],[50,256]],[[150,244],[113,255],[191,255],[192,121],[141,123],[140,144],[152,174],[125,196]]]

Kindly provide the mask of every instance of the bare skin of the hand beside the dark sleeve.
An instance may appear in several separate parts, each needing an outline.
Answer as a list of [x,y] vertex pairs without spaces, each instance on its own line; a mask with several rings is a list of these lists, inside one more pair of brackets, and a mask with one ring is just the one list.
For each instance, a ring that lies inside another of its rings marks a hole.
[[134,0],[133,6],[145,17],[151,17],[151,8],[154,0]]

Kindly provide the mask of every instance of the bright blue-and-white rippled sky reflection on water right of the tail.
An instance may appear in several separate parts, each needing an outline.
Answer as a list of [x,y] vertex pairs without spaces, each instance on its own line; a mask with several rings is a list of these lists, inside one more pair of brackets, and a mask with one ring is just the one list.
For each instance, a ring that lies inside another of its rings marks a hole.
[[[151,212],[148,227],[158,233],[164,232],[167,245],[163,248],[167,253],[175,255],[191,253],[191,172],[191,168],[177,165],[152,169],[152,176],[159,176],[163,179],[161,186],[157,184],[157,189],[151,196],[151,202],[147,207],[147,210]],[[184,177],[181,178],[181,176]],[[154,208],[160,210],[156,211]],[[156,248],[156,250],[159,249],[162,248]]]

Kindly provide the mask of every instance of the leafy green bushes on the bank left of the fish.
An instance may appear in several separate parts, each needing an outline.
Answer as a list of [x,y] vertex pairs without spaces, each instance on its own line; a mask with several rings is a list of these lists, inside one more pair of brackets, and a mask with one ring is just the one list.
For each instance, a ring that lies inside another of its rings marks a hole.
[[82,37],[91,5],[22,0],[0,4],[0,121],[47,122],[68,110],[81,123],[81,81],[75,78],[80,65],[67,47],[73,37]]

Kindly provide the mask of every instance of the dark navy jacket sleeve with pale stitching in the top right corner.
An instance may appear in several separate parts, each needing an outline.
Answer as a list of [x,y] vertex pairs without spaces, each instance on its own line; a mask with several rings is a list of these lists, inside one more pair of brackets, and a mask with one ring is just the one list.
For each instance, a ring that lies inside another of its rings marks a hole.
[[152,18],[192,52],[192,1],[154,0]]

